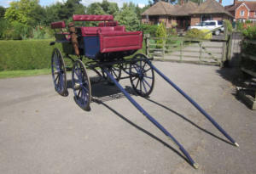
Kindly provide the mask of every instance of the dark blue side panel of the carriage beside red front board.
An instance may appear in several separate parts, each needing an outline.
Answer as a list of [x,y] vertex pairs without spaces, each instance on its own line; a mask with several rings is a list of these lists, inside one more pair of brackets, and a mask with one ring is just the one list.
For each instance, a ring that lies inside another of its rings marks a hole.
[[94,59],[96,54],[100,52],[99,36],[84,36],[84,56]]

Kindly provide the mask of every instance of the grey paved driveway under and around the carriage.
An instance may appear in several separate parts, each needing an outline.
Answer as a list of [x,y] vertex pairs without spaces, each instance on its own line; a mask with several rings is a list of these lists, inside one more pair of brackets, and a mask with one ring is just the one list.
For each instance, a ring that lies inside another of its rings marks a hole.
[[[229,80],[236,71],[154,65],[241,147],[231,145],[160,76],[150,98],[132,98],[182,143],[198,170],[114,86],[92,86],[96,102],[86,112],[73,101],[71,88],[68,97],[55,93],[49,75],[4,79],[0,80],[0,173],[256,173],[256,114],[235,96]],[[120,83],[132,93],[130,81]]]

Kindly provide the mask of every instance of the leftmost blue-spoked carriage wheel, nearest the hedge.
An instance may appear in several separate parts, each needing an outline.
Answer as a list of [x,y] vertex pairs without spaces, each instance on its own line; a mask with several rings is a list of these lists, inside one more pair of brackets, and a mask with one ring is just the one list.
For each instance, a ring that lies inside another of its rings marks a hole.
[[55,48],[51,55],[51,73],[55,84],[55,90],[62,96],[67,95],[67,78],[64,59],[61,51]]

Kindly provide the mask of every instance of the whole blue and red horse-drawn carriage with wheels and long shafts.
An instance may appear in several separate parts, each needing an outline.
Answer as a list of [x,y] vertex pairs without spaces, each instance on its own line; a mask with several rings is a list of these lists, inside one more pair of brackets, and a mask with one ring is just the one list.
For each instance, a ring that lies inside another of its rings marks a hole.
[[[69,23],[68,33],[62,31],[66,28],[63,21],[51,23],[52,29],[61,29],[61,32],[55,33],[55,42],[61,42],[65,56],[59,49],[55,48],[51,56],[52,76],[55,90],[62,96],[67,96],[67,76],[66,71],[72,71],[72,84],[74,98],[80,108],[90,110],[92,79],[87,74],[87,69],[94,70],[100,80],[104,79],[109,84],[119,87],[119,90],[125,94],[125,97],[145,115],[149,121],[160,128],[172,142],[177,145],[183,154],[191,162],[191,165],[197,168],[195,161],[190,157],[183,146],[177,142],[166,129],[155,121],[148,112],[144,110],[137,102],[131,98],[129,93],[120,86],[119,80],[129,78],[134,91],[142,96],[147,97],[152,93],[154,88],[154,71],[163,77],[172,85],[183,97],[187,98],[191,104],[199,109],[203,115],[218,128],[220,132],[234,145],[238,146],[236,141],[218,125],[201,107],[195,103],[192,98],[177,87],[170,79],[163,75],[143,53],[137,53],[132,59],[125,59],[143,48],[143,32],[142,31],[125,31],[125,26],[119,25],[118,21],[113,21],[113,15],[73,15],[73,21],[103,21],[97,27],[75,26],[75,23]],[[51,42],[50,45],[54,45]],[[77,55],[79,59],[74,60],[69,55]],[[85,65],[82,62],[83,57],[91,59]],[[65,59],[71,59],[73,67],[67,67]],[[85,68],[86,67],[86,68]],[[99,71],[100,70],[100,71]],[[128,76],[121,76],[121,72],[125,72]]]

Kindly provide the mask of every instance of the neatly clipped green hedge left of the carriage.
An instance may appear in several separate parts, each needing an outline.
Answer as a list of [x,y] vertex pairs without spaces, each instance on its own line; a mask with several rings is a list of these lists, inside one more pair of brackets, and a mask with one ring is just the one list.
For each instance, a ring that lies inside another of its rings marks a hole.
[[60,43],[49,46],[52,40],[0,41],[0,70],[34,70],[50,68],[50,57]]

